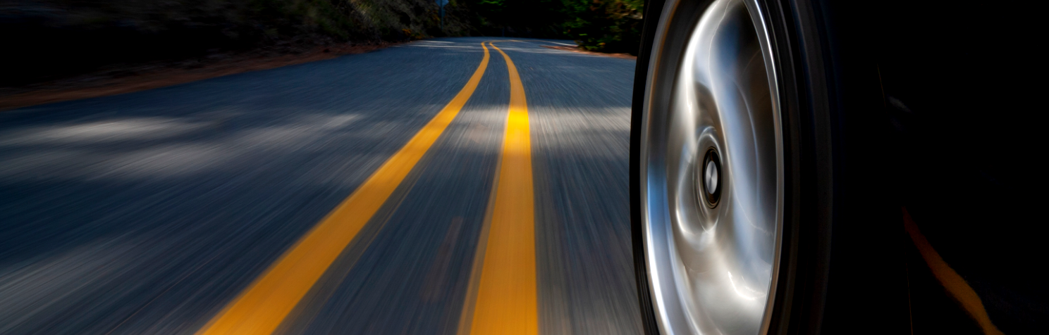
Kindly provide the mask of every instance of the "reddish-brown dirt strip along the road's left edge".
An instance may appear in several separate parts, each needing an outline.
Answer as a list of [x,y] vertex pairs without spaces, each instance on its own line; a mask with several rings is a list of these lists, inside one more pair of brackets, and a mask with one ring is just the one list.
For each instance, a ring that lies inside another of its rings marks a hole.
[[130,93],[216,76],[329,60],[343,54],[374,51],[395,44],[400,43],[313,46],[295,50],[294,53],[256,50],[237,54],[215,54],[189,61],[109,67],[88,74],[26,87],[0,88],[0,111]]

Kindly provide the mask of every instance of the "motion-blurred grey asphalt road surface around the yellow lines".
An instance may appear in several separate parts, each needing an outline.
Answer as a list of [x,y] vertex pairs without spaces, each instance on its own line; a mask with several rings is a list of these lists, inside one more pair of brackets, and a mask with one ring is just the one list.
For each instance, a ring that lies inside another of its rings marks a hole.
[[[639,334],[634,61],[490,38],[0,112],[0,334],[202,332],[429,127],[489,40],[527,96],[535,328]],[[366,224],[304,284],[276,333],[477,325],[514,81],[488,49],[454,119],[373,215],[348,214]]]

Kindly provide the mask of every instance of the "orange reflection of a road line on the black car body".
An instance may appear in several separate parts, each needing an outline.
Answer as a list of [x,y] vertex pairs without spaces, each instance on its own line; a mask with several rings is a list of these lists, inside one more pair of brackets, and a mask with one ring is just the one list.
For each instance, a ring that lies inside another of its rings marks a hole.
[[1002,331],[991,322],[990,316],[987,315],[987,310],[984,309],[983,300],[980,299],[980,295],[977,295],[977,291],[972,290],[972,287],[965,282],[955,269],[947,265],[947,262],[943,261],[939,252],[933,249],[933,245],[928,243],[925,236],[921,233],[921,229],[918,228],[918,224],[915,224],[914,220],[911,219],[911,214],[907,213],[906,208],[903,208],[903,228],[911,236],[911,241],[915,243],[915,247],[918,248],[918,252],[921,253],[921,258],[925,260],[925,264],[928,268],[933,270],[933,276],[936,276],[943,288],[947,289],[958,303],[962,304],[962,308],[965,312],[969,314],[977,323],[980,325],[980,329],[983,330],[984,334],[987,335],[1001,335]]

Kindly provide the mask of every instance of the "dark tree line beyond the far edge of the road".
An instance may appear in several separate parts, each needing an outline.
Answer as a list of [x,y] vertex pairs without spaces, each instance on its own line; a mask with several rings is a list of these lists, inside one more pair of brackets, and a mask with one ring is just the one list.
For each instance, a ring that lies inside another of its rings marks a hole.
[[9,0],[0,86],[104,66],[443,36],[576,40],[636,53],[643,0]]

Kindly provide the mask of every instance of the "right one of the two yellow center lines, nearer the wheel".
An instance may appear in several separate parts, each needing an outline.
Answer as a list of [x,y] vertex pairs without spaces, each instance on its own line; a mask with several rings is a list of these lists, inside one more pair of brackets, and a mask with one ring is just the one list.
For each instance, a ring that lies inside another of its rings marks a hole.
[[489,44],[507,61],[510,113],[470,332],[537,334],[535,205],[528,106],[514,62],[495,44]]

